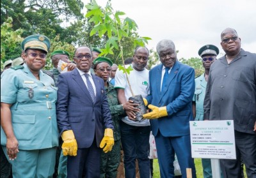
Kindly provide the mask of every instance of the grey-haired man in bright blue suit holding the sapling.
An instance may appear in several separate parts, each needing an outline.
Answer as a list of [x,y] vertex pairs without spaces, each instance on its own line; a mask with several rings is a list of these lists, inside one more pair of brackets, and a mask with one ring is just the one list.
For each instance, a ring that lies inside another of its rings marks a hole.
[[157,156],[162,178],[174,177],[174,154],[179,160],[182,177],[186,168],[195,164],[191,158],[189,121],[193,120],[192,98],[195,91],[195,71],[177,60],[171,40],[161,40],[156,47],[162,64],[149,72],[150,95],[145,104],[152,110],[143,117],[150,120],[156,139]]

